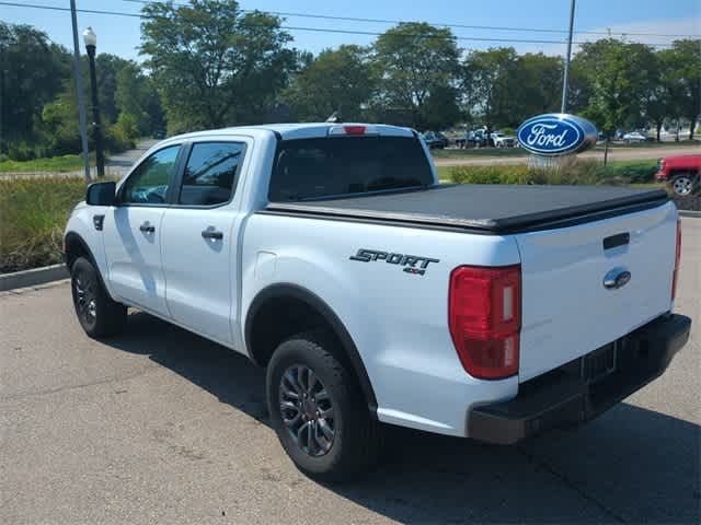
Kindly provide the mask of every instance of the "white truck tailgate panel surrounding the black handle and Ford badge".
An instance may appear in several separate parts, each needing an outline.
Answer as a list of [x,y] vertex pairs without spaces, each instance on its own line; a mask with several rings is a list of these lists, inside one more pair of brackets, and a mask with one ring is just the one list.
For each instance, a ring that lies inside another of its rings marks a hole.
[[[519,381],[612,342],[667,312],[675,229],[674,206],[666,203],[571,228],[517,234],[522,271]],[[607,249],[604,241],[609,237]],[[607,289],[604,278],[616,268],[629,271],[630,281]]]

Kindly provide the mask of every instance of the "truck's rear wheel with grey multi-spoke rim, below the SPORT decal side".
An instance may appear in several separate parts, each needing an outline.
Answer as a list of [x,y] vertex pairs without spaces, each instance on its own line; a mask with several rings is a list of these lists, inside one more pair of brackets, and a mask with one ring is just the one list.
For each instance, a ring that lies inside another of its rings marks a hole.
[[267,368],[273,429],[295,465],[322,481],[344,481],[377,460],[380,423],[370,417],[333,338],[304,332],[280,343]]

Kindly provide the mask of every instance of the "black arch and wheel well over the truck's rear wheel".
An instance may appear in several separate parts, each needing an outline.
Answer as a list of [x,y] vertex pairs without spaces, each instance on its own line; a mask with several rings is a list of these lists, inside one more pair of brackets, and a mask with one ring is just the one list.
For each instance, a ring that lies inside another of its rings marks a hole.
[[[371,416],[377,418],[375,390],[350,334],[333,308],[307,288],[294,283],[277,283],[271,284],[257,293],[251,302],[244,324],[245,346],[250,359],[257,365],[265,366],[277,343],[281,342],[286,337],[304,331],[303,329],[290,327],[292,330],[283,329],[278,337],[275,337],[275,330],[269,330],[267,320],[271,319],[272,314],[280,311],[287,313],[285,307],[289,306],[290,303],[296,306],[304,305],[304,315],[317,316],[314,319],[310,319],[310,323],[329,328],[336,337],[343,350],[342,357],[346,359],[347,364],[355,373]],[[265,329],[265,335],[262,335],[263,329]]]

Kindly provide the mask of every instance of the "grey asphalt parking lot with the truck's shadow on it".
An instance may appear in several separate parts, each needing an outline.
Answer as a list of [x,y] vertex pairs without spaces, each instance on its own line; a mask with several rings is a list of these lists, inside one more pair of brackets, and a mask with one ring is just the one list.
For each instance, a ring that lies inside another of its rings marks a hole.
[[67,283],[0,295],[0,523],[699,523],[701,219],[683,219],[690,342],[599,419],[513,447],[392,429],[365,480],[300,475],[264,374],[141,313],[82,332]]

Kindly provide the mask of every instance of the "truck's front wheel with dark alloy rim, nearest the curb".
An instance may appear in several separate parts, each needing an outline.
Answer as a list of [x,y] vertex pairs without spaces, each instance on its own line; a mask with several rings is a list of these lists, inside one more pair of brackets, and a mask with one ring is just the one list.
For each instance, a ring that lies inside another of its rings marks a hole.
[[79,257],[71,266],[70,275],[73,307],[85,334],[102,338],[122,332],[127,320],[127,307],[110,298],[92,262]]

